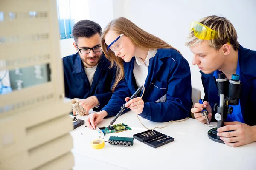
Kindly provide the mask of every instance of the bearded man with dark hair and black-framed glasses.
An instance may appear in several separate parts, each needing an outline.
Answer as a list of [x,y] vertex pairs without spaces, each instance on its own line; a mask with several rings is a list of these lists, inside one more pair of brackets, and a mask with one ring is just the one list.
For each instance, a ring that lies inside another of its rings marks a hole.
[[[100,35],[102,28],[90,20],[77,22],[72,30],[73,46],[77,53],[63,58],[65,96],[79,101],[84,114],[93,108],[100,111],[111,99],[111,84],[115,69],[102,54]],[[75,115],[75,111],[73,110]]]

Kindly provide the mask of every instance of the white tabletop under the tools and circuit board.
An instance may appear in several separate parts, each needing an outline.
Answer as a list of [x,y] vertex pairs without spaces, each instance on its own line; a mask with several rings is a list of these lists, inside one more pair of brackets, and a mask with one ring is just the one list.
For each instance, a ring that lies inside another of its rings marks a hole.
[[[150,129],[166,125],[139,118]],[[87,116],[80,119],[87,119]],[[108,126],[112,119],[104,119],[97,126]],[[131,111],[120,116],[116,123],[125,123],[132,130],[107,134],[105,141],[110,136],[133,137],[147,130],[137,119],[136,113]],[[74,146],[74,170],[256,170],[256,142],[236,148],[214,142],[207,136],[207,131],[213,127],[196,119],[170,122],[163,129],[156,128],[156,131],[174,138],[173,142],[158,148],[134,139],[131,147],[105,142],[104,148],[96,150],[90,146],[90,142],[98,139],[99,133],[84,126],[70,132]]]

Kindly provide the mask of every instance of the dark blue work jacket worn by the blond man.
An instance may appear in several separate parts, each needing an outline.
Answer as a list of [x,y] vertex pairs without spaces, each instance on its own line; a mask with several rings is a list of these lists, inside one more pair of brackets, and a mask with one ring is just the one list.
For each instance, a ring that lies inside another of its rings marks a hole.
[[[256,125],[256,51],[243,48],[241,45],[239,47],[239,79],[242,83],[240,97],[241,112],[244,123],[253,126]],[[204,100],[208,101],[212,106],[214,118],[216,112],[213,111],[213,106],[215,103],[219,103],[215,77],[213,76],[213,73],[204,74],[202,71],[200,72],[202,74],[201,78],[204,86]]]

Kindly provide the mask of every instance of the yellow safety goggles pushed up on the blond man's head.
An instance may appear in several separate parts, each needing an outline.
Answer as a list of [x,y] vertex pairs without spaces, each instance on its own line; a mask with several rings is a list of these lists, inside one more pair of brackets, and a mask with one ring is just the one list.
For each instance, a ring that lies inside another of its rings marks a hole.
[[218,38],[218,32],[205,26],[204,24],[193,21],[190,25],[190,31],[194,31],[195,37],[201,40],[211,40]]

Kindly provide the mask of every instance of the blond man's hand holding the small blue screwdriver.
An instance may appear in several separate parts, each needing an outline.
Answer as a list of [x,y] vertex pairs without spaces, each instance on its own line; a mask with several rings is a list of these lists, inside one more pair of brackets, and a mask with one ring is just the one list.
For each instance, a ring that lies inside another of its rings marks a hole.
[[207,123],[205,116],[203,116],[201,113],[203,108],[206,108],[206,110],[208,111],[209,114],[207,117],[208,117],[209,121],[211,121],[212,120],[212,107],[209,104],[209,102],[207,102],[207,101],[204,101],[203,104],[195,103],[194,108],[192,108],[190,111],[192,113],[194,113],[195,119],[197,119],[199,122]]

